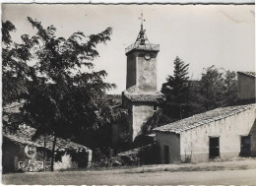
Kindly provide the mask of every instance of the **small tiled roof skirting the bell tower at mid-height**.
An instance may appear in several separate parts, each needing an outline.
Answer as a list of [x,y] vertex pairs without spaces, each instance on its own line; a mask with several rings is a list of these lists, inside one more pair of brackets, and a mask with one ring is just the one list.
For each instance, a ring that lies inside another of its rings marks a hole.
[[156,93],[140,93],[138,87],[133,86],[124,91],[124,96],[133,102],[157,102],[162,97],[160,92]]

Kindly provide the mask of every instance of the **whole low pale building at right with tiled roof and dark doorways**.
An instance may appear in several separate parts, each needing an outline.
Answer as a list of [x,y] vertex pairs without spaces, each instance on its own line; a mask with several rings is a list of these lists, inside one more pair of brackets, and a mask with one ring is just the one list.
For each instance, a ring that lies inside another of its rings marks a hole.
[[256,105],[217,108],[154,131],[160,163],[256,156]]

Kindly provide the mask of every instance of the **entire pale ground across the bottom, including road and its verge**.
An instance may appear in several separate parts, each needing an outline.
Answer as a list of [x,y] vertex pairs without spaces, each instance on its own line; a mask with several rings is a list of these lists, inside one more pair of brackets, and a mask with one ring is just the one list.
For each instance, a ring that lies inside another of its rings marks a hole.
[[235,184],[256,183],[256,159],[164,164],[110,170],[4,174],[4,184]]

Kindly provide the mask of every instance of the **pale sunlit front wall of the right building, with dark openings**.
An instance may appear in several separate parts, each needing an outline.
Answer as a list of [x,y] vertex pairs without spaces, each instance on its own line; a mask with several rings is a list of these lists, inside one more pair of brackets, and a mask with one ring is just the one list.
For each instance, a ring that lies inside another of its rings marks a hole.
[[180,135],[181,159],[191,155],[192,162],[209,160],[209,138],[220,137],[220,157],[228,159],[239,156],[241,136],[251,135],[251,152],[256,155],[255,106],[243,112],[231,115]]

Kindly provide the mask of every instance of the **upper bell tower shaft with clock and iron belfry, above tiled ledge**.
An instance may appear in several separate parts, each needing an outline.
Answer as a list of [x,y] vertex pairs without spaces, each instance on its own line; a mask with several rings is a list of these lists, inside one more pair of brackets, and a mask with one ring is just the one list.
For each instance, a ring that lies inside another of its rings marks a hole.
[[146,30],[143,29],[143,14],[141,30],[136,41],[125,49],[127,56],[126,89],[133,86],[141,93],[157,92],[157,56],[159,44],[150,43]]

